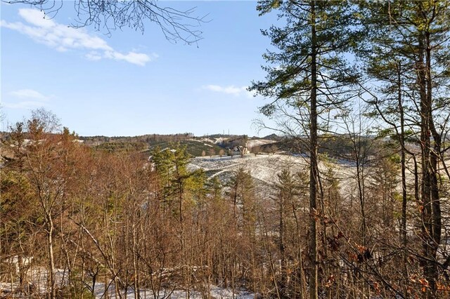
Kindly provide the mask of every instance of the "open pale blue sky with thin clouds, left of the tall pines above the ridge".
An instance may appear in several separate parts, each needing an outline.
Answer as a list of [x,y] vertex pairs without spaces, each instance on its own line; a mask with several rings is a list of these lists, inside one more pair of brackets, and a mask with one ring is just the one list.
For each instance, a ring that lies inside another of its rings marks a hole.
[[63,4],[51,20],[30,6],[0,5],[1,105],[10,124],[45,107],[79,135],[257,135],[252,119],[265,100],[245,87],[264,78],[270,41],[259,29],[276,15],[259,17],[255,1],[159,1],[207,15],[203,39],[188,46],[152,24],[111,36],[70,28],[75,11]]

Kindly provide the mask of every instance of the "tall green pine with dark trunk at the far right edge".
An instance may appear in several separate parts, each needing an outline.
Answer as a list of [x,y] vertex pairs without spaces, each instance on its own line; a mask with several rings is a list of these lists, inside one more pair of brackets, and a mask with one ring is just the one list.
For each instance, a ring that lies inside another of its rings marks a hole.
[[[416,171],[415,198],[421,211],[423,275],[429,286],[426,296],[437,295],[437,251],[442,235],[442,211],[439,195],[439,165],[446,170],[444,143],[449,103],[449,1],[364,2],[368,8],[371,39],[368,76],[383,82],[373,97],[379,115],[399,137],[404,165],[405,140],[420,147],[421,178]],[[374,29],[375,28],[375,29]],[[374,34],[375,33],[375,34]],[[378,95],[380,95],[378,97]],[[406,135],[409,127],[413,136]],[[411,153],[409,153],[411,154]],[[414,157],[415,158],[415,157]],[[406,252],[406,182],[402,172],[402,230]],[[418,184],[420,183],[420,186]],[[404,253],[405,255],[405,253]],[[406,257],[404,258],[406,261]],[[404,279],[407,278],[404,270]],[[404,295],[408,296],[406,289]]]

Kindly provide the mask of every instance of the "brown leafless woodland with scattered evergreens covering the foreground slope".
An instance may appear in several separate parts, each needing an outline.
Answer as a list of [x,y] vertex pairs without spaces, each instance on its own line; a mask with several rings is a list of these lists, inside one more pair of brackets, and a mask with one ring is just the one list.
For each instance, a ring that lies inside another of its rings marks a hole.
[[[207,295],[220,286],[262,297],[305,296],[308,157],[191,160],[186,146],[173,144],[148,160],[139,150],[98,151],[76,142],[39,112],[13,126],[2,145],[12,153],[1,171],[4,292],[89,298],[108,290],[120,298],[139,290]],[[404,287],[401,161],[390,142],[375,142],[370,155],[366,141],[357,145],[361,159],[321,156],[321,209],[314,217],[323,291],[333,298],[363,291],[390,297]],[[413,160],[406,167],[407,188],[414,190]],[[442,213],[448,208],[443,204]],[[408,287],[418,295],[428,287],[421,212],[411,199]],[[359,241],[361,222],[366,245]],[[443,266],[444,244],[437,260]],[[438,284],[446,296],[445,280]]]

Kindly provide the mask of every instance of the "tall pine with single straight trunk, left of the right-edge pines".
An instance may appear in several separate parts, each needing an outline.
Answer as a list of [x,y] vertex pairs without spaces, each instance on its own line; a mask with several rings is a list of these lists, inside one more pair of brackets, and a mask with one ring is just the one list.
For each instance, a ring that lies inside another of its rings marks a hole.
[[250,90],[271,98],[260,112],[275,119],[287,135],[309,135],[309,298],[318,298],[318,138],[328,124],[323,116],[352,98],[349,86],[357,77],[342,53],[356,43],[354,7],[348,1],[259,1],[261,15],[273,9],[285,22],[271,26],[269,36],[278,51],[264,54],[269,66],[265,81]]

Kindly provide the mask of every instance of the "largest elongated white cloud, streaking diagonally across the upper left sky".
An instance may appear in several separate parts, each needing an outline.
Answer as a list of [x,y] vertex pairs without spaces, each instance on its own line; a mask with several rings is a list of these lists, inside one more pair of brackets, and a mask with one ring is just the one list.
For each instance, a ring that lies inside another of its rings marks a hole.
[[86,29],[75,29],[59,24],[54,20],[46,19],[44,13],[37,9],[20,8],[19,15],[26,23],[1,20],[0,26],[25,34],[34,41],[54,48],[56,51],[64,52],[79,49],[89,51],[89,53],[84,55],[89,60],[107,58],[123,60],[141,66],[158,58],[158,55],[155,53],[147,55],[131,51],[124,54],[115,51],[104,39],[89,34],[89,32],[86,32]]

